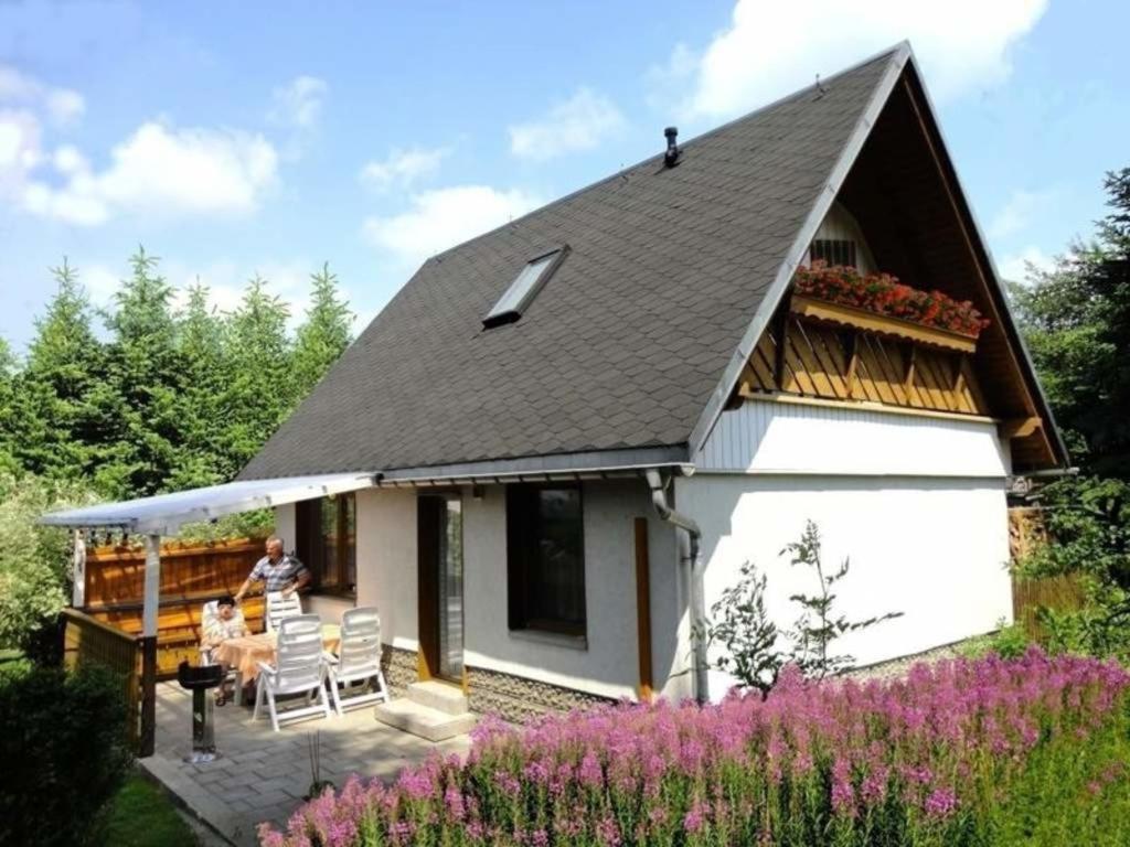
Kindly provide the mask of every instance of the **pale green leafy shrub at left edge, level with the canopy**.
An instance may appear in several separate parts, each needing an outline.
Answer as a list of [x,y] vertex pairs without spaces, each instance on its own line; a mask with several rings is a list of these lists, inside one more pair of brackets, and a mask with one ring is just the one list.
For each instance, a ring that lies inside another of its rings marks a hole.
[[35,657],[42,641],[53,637],[40,638],[40,631],[54,626],[67,604],[70,542],[67,531],[37,521],[45,512],[90,499],[78,486],[0,473],[0,647]]

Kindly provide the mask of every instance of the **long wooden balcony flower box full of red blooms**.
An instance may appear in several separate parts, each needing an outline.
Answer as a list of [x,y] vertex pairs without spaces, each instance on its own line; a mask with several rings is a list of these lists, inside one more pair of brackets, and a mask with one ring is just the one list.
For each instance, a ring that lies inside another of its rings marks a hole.
[[794,277],[792,311],[815,320],[973,352],[989,325],[968,300],[911,288],[888,273],[816,263]]

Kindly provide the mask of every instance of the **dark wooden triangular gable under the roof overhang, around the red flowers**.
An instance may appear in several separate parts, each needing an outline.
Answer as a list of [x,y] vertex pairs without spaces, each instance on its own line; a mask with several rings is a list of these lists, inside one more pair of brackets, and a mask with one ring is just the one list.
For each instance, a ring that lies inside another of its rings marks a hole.
[[[1010,442],[1017,472],[1061,466],[1066,451],[907,59],[812,237],[859,239],[868,270],[970,300],[989,326],[963,350],[893,322],[844,324],[820,308],[798,315],[790,269],[779,296],[763,304],[771,316],[729,387],[728,407],[780,392],[986,417]],[[800,262],[810,257],[806,250]]]

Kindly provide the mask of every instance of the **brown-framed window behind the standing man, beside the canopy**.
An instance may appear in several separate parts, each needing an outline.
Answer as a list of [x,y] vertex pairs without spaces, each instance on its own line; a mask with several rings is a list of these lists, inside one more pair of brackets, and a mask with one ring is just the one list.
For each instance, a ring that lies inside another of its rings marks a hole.
[[357,499],[353,494],[303,500],[296,510],[296,552],[314,587],[353,594],[357,585]]

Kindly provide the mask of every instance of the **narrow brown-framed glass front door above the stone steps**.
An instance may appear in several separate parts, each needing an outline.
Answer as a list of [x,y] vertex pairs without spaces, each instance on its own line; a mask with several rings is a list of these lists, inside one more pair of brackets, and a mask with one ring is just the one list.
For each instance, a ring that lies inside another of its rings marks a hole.
[[463,681],[463,501],[458,494],[420,495],[420,675]]

